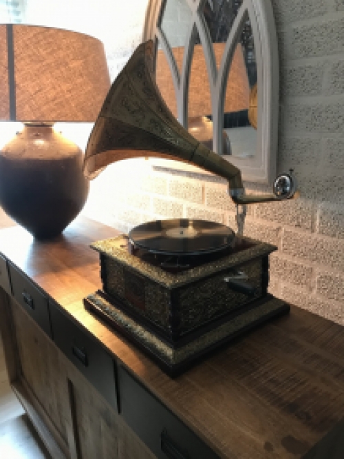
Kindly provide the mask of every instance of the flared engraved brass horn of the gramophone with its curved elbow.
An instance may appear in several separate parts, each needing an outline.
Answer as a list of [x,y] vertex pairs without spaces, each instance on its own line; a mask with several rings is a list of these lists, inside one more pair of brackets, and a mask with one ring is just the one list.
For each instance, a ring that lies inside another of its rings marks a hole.
[[139,156],[191,163],[222,176],[237,204],[280,201],[295,191],[292,176],[284,174],[275,181],[275,194],[244,194],[240,170],[189,134],[164,103],[155,83],[151,40],[136,48],[111,85],[89,136],[83,171],[94,179],[107,165]]

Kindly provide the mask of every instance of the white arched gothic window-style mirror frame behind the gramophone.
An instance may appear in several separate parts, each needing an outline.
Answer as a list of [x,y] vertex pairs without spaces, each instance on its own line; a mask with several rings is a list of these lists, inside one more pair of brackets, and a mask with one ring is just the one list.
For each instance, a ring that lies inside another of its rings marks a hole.
[[[230,63],[235,52],[237,39],[241,33],[241,26],[250,18],[257,61],[258,82],[258,130],[257,150],[252,157],[237,158],[224,156],[230,163],[241,170],[244,181],[271,184],[276,176],[277,168],[277,140],[279,116],[279,54],[277,46],[277,32],[275,18],[270,0],[244,0],[233,23],[230,35],[226,41],[224,55],[217,70],[215,54],[211,37],[206,23],[200,14],[206,1],[211,0],[184,0],[192,12],[189,26],[182,70],[179,72],[173,52],[169,48],[164,33],[160,29],[162,13],[167,0],[150,0],[144,23],[143,41],[153,39],[159,41],[169,66],[175,87],[178,106],[178,119],[187,127],[187,103],[189,72],[193,57],[194,28],[197,28],[204,49],[204,58],[211,88],[211,105],[213,110],[214,151],[221,154],[222,148],[222,116],[224,112],[224,96]],[[155,47],[155,51],[157,46]],[[180,169],[180,165],[178,166]]]

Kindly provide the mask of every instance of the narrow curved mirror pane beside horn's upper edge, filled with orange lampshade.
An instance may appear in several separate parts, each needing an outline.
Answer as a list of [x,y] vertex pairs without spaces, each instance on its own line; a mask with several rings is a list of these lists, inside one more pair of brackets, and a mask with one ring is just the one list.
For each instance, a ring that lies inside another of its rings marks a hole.
[[155,79],[156,84],[162,95],[162,99],[166,102],[175,118],[178,118],[177,98],[175,96],[175,87],[173,85],[173,79],[171,74],[171,68],[166,59],[164,51],[160,47],[160,43],[157,40],[156,53],[156,68],[155,68]]

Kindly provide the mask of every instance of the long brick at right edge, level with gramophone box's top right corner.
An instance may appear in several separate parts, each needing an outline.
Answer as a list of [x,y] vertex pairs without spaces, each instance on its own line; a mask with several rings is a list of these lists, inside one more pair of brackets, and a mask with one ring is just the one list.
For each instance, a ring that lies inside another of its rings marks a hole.
[[344,241],[341,239],[285,230],[282,251],[296,258],[305,258],[317,266],[327,265],[344,271]]

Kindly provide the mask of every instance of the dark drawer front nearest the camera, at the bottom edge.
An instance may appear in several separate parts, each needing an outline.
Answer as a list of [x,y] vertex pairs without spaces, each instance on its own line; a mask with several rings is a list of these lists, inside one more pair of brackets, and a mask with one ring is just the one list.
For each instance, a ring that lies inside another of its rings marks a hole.
[[207,445],[122,367],[120,411],[131,429],[159,459],[218,459]]

